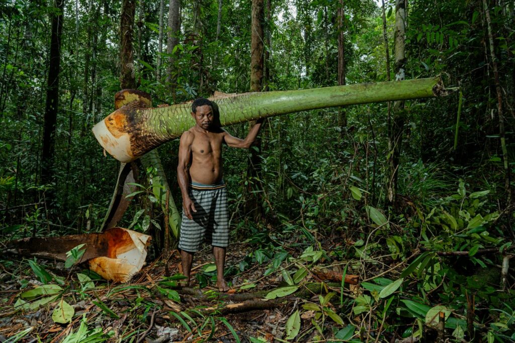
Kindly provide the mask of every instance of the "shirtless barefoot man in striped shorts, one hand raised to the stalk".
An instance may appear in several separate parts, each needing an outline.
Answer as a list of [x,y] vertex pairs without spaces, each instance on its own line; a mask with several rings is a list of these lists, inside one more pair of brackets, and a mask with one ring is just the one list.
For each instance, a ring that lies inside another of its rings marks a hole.
[[222,179],[222,143],[248,149],[258,135],[262,120],[257,121],[245,139],[239,139],[216,124],[213,104],[208,99],[193,101],[192,117],[196,124],[181,136],[177,166],[183,207],[179,238],[182,273],[189,285],[193,255],[205,237],[213,246],[216,286],[220,292],[227,292],[224,265],[229,244],[229,216]]

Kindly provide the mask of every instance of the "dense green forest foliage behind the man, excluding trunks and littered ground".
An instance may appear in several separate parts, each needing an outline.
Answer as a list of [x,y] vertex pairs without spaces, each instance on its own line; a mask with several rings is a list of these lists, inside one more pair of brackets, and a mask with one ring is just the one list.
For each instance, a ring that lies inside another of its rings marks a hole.
[[[339,2],[269,1],[268,89],[336,85]],[[434,318],[444,312],[451,339],[513,341],[515,280],[508,276],[502,281],[501,266],[512,256],[515,207],[505,184],[483,1],[407,3],[406,79],[442,75],[446,86],[460,90],[448,97],[405,102],[398,206],[389,207],[386,199],[391,154],[386,103],[348,107],[346,128],[338,126],[338,109],[269,119],[262,131],[258,176],[247,173],[248,151],[224,148],[234,240],[251,237],[247,242],[252,247],[243,264],[229,268],[229,274],[251,264],[270,263],[277,269],[274,261],[280,259],[280,265],[290,254],[306,267],[345,262],[339,265],[347,266],[348,273],[370,279],[354,297],[333,298],[330,307],[323,297],[316,301],[318,310],[299,306],[301,311],[320,313],[303,322],[303,328],[316,328],[317,336],[309,340],[334,334],[348,340],[349,333],[356,332],[353,339],[362,341],[412,335],[434,341]],[[515,4],[487,4],[502,89],[508,171],[513,175]],[[390,55],[393,5],[386,2]],[[56,8],[45,0],[0,4],[2,241],[74,234],[89,225],[95,231],[101,225],[119,164],[102,154],[91,128],[113,110],[113,95],[119,90],[120,6],[111,0],[64,3],[55,177],[52,184],[42,184],[49,32]],[[214,91],[248,91],[249,1],[223,2],[218,40],[218,1],[181,2],[180,44],[172,60],[174,94],[164,77],[156,80],[159,2],[142,1],[138,6],[143,15],[136,10],[135,31],[141,30],[141,38],[136,34],[135,40],[136,80],[155,106]],[[348,84],[386,80],[381,14],[372,1],[345,1]],[[167,57],[163,53],[161,75],[168,67]],[[393,71],[389,73],[394,80]],[[240,137],[247,130],[245,124],[228,128]],[[178,142],[158,150],[180,204],[175,176]],[[151,170],[140,171],[146,172]],[[48,194],[52,198],[47,199]],[[262,207],[258,218],[243,210],[251,197]],[[122,226],[129,226],[134,214],[140,216],[139,210],[148,206],[140,198],[133,200]],[[156,223],[163,220],[157,208]],[[148,222],[140,222],[134,228],[148,229]],[[150,227],[150,232],[158,231],[156,225]],[[268,274],[281,274],[276,269]]]

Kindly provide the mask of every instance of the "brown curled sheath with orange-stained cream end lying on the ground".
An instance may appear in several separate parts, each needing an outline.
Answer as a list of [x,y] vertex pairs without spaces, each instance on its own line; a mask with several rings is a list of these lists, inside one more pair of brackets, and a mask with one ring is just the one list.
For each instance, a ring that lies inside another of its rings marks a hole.
[[150,240],[147,234],[113,227],[101,233],[23,238],[9,242],[5,251],[66,261],[67,251],[85,244],[84,254],[76,263],[88,262],[89,268],[106,280],[128,282],[143,267]]

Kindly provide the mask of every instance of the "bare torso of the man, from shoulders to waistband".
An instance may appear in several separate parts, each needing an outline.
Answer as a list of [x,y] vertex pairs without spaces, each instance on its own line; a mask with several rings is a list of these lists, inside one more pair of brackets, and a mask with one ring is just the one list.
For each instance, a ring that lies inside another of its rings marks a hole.
[[188,131],[194,136],[189,170],[192,182],[204,185],[219,183],[223,175],[222,142],[226,132],[222,129],[198,130],[195,127]]

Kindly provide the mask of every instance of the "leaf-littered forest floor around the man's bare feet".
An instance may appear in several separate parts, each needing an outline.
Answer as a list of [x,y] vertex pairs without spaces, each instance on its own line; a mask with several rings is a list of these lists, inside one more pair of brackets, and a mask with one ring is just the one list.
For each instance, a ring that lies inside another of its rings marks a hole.
[[[329,238],[328,242],[322,242],[322,246],[329,248],[335,245],[340,246],[341,243],[335,244]],[[168,272],[164,261],[158,258],[149,262],[128,284],[96,280],[88,270],[80,271],[80,266],[65,269],[61,262],[37,260],[36,265],[54,276],[53,281],[59,281],[57,284],[60,284],[57,288],[48,288],[39,293],[30,293],[30,290],[41,290],[47,286],[38,280],[38,273],[31,270],[32,265],[29,267],[28,260],[7,256],[0,270],[0,342],[6,339],[9,342],[108,340],[139,343],[286,341],[287,333],[292,327],[295,328],[295,321],[300,323],[300,332],[293,341],[334,339],[335,333],[342,331],[346,325],[342,322],[337,324],[327,316],[339,311],[335,309],[338,301],[333,300],[333,305],[328,300],[326,306],[329,312],[323,312],[325,321],[322,318],[321,328],[317,329],[313,323],[320,322],[322,310],[317,313],[316,307],[312,306],[311,310],[303,311],[301,305],[310,299],[318,302],[319,294],[328,292],[335,293],[333,299],[340,300],[344,288],[340,288],[338,282],[336,286],[333,283],[333,287],[324,285],[322,289],[319,286],[320,291],[316,293],[303,285],[310,282],[318,282],[320,285],[322,280],[314,272],[314,267],[328,262],[332,262],[327,266],[333,270],[332,274],[339,274],[341,280],[344,263],[327,260],[327,256],[319,256],[316,251],[315,254],[309,249],[307,252],[295,251],[295,248],[289,246],[283,244],[281,254],[273,250],[256,250],[255,244],[231,245],[226,261],[226,274],[229,274],[226,280],[231,290],[228,295],[221,296],[214,288],[213,279],[216,280],[216,277],[209,247],[195,256],[190,287],[177,286],[174,277],[165,278],[165,274],[174,276],[181,273],[177,250],[174,250],[167,263]],[[285,254],[286,251],[288,254]],[[290,258],[285,259],[286,256]],[[294,273],[294,270],[297,272]],[[327,272],[328,269],[324,270]],[[84,277],[86,275],[93,281]],[[291,279],[300,279],[302,282],[292,283]],[[199,288],[199,283],[202,283],[202,288]],[[298,286],[292,287],[292,284]],[[294,293],[278,295],[277,299],[264,299],[269,290],[285,286],[289,290],[295,288]],[[358,286],[350,286],[351,291],[358,292]],[[345,287],[345,297],[348,297],[349,285]],[[302,293],[300,291],[304,291],[303,295],[299,294]],[[252,294],[256,296],[252,297]],[[296,310],[301,310],[300,318]],[[297,317],[287,324],[288,318],[295,317],[294,314]],[[315,316],[317,321],[313,320]],[[335,320],[338,321],[338,318]],[[359,325],[359,320],[356,324]]]

